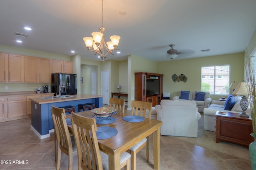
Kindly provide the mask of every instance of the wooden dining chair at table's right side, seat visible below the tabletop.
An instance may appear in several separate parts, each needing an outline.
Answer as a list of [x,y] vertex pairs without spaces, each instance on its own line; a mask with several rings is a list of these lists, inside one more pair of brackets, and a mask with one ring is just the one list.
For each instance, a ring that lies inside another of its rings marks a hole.
[[[151,119],[151,112],[152,112],[152,103],[151,102],[144,102],[144,101],[132,101],[131,103],[132,111],[131,115],[146,117],[146,113],[148,112],[148,118]],[[146,156],[147,162],[149,161],[149,144],[148,144],[148,137],[142,139],[140,142],[129,148],[126,152],[131,154],[132,159],[132,170],[136,170],[136,154],[146,146]]]

